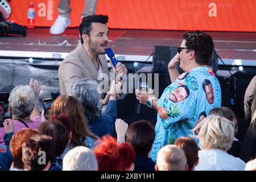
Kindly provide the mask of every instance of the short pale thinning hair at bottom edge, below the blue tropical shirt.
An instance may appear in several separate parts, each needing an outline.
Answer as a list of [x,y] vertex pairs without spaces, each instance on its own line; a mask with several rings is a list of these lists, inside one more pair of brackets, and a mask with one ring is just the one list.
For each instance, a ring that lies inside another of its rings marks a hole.
[[174,144],[168,144],[158,151],[156,166],[159,171],[184,171],[186,165],[185,152]]

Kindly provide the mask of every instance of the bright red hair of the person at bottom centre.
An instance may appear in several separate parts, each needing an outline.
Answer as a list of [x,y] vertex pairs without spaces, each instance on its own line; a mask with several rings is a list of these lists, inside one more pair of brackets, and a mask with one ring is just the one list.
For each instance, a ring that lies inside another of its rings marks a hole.
[[117,143],[110,135],[98,140],[93,150],[98,160],[98,171],[133,171],[135,152],[131,144]]

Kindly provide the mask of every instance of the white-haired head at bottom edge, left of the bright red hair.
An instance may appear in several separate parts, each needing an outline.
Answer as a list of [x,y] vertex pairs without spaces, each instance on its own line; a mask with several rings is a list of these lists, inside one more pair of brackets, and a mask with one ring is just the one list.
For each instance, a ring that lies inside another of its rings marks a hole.
[[63,171],[97,171],[98,162],[88,147],[72,148],[63,158]]

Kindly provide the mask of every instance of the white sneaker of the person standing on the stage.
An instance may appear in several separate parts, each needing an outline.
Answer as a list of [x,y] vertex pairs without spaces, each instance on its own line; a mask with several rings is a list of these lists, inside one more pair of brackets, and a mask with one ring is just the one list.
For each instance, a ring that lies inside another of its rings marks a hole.
[[59,15],[58,18],[55,20],[53,26],[51,26],[50,28],[50,34],[52,35],[62,34],[70,24],[71,24],[70,18],[65,18]]

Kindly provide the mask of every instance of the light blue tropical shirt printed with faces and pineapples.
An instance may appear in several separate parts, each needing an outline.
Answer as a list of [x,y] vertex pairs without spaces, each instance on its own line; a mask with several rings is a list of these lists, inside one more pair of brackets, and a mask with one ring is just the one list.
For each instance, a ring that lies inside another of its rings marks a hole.
[[151,158],[156,161],[160,148],[174,144],[177,138],[190,137],[191,130],[207,116],[209,110],[220,106],[220,83],[212,68],[196,67],[182,73],[164,89],[158,100]]

